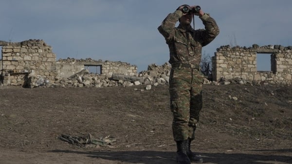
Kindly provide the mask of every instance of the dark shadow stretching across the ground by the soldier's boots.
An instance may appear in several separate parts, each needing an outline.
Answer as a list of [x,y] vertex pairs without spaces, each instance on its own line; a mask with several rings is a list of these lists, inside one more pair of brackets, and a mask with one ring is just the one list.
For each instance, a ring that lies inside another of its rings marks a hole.
[[[291,152],[292,149],[255,150],[273,152]],[[54,153],[85,154],[91,158],[100,158],[110,161],[143,164],[176,164],[175,152],[163,151],[71,151],[52,150]],[[258,155],[258,154],[226,154],[226,153],[201,153],[204,163],[212,164],[292,164],[292,156]]]

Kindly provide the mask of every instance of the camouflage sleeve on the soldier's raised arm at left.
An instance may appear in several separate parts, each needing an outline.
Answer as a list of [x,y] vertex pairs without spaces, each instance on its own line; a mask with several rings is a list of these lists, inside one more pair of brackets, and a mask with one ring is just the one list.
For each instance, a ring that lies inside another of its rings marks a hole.
[[174,13],[168,14],[158,27],[158,31],[164,36],[167,44],[173,39],[175,24],[182,16],[183,12],[176,10]]

